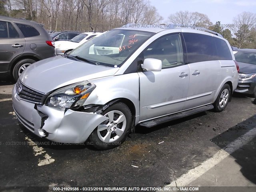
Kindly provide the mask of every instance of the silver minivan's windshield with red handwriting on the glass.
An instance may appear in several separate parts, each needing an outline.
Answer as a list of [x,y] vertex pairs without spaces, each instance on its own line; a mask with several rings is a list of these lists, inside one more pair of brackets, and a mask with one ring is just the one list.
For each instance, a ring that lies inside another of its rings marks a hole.
[[120,67],[153,34],[136,30],[110,30],[85,42],[68,55],[78,56],[98,65]]

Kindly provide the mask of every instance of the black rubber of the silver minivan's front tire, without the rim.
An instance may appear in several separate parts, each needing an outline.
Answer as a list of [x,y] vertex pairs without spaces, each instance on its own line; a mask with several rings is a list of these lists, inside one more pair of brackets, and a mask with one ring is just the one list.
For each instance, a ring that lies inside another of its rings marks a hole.
[[99,149],[99,150],[108,150],[111,148],[115,148],[116,146],[119,146],[124,142],[126,139],[126,136],[130,133],[130,129],[132,127],[132,113],[128,106],[124,103],[116,103],[113,104],[112,106],[108,107],[106,110],[102,112],[102,115],[105,115],[106,113],[113,111],[113,110],[118,110],[124,114],[126,117],[126,128],[124,130],[124,134],[118,138],[115,142],[112,143],[105,143],[100,138],[98,137],[98,132],[97,132],[97,127],[94,129],[92,134],[89,136],[91,144],[94,146],[94,148]]

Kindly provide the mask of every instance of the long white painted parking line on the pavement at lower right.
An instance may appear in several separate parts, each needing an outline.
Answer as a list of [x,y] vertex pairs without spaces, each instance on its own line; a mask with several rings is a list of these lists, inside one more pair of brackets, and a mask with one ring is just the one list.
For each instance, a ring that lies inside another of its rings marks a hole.
[[202,176],[202,174],[216,166],[219,162],[224,160],[224,158],[235,152],[238,148],[246,145],[250,140],[254,138],[254,136],[256,136],[256,128],[253,128],[246,134],[242,135],[240,138],[237,138],[235,141],[228,144],[225,148],[219,150],[212,158],[204,161],[200,166],[189,170],[187,173],[166,185],[166,187],[187,186],[192,181]]

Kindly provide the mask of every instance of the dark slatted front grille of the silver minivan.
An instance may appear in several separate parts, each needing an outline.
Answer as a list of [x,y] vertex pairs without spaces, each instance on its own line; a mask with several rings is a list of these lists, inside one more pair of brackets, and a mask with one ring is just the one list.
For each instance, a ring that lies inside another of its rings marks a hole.
[[20,79],[18,79],[16,84],[16,92],[22,100],[26,100],[30,103],[42,104],[44,99],[47,97],[46,94],[40,93],[38,91],[28,88]]

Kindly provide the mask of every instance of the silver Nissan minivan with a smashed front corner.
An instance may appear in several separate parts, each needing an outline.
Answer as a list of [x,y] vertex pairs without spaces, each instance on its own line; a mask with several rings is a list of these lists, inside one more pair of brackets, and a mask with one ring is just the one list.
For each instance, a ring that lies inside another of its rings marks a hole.
[[13,107],[37,136],[106,150],[138,124],[224,110],[238,84],[234,60],[214,32],[124,26],[26,68]]

